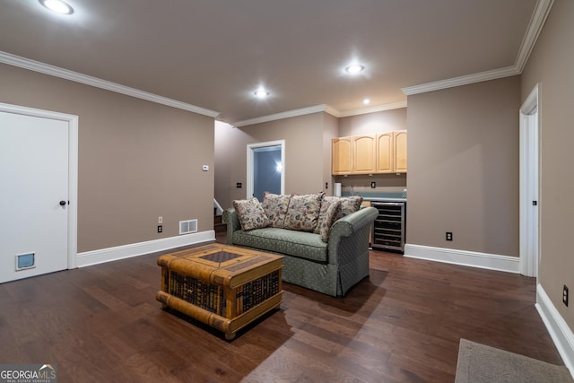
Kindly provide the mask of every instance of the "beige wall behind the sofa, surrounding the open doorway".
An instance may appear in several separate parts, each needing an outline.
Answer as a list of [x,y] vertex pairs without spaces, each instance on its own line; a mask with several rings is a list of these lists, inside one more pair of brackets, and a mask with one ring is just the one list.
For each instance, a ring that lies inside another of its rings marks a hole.
[[[333,121],[328,118],[326,122],[326,118],[326,113],[321,112],[251,126],[218,126],[215,178],[216,198],[222,207],[230,207],[234,199],[247,196],[248,144],[285,140],[285,193],[309,194],[324,190],[325,183],[331,181],[330,173],[324,170],[324,134],[328,135],[324,132],[333,131]],[[236,187],[238,182],[243,184],[242,188]]]

